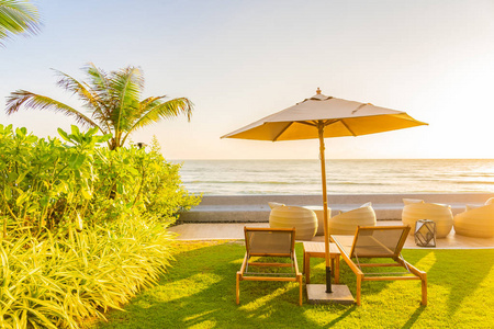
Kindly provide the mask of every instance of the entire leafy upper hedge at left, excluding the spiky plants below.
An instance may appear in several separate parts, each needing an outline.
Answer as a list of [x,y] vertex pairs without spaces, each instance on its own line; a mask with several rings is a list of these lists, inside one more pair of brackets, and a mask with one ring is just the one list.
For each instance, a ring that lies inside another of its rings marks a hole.
[[181,186],[179,167],[165,161],[155,146],[144,149],[99,148],[109,136],[97,128],[57,138],[37,138],[25,128],[0,125],[0,211],[8,228],[33,231],[82,222],[114,220],[127,214],[173,215],[199,203]]

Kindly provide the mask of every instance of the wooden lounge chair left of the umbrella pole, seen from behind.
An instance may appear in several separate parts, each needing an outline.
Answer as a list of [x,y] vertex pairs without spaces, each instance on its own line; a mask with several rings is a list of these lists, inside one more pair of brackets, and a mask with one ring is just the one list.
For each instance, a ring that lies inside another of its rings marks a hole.
[[[294,281],[299,282],[299,305],[302,305],[302,273],[295,257],[294,228],[244,227],[246,253],[236,275],[236,302],[240,303],[240,281]],[[252,257],[269,257],[270,262],[251,261]],[[274,260],[288,259],[290,262]],[[256,272],[256,268],[262,269]],[[285,268],[283,273],[274,268]]]

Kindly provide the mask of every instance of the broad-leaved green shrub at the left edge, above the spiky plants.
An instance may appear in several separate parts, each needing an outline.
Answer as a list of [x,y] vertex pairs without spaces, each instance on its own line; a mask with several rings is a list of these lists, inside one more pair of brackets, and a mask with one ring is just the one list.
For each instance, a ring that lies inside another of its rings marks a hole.
[[40,139],[25,128],[0,125],[1,211],[7,223],[40,229],[80,217],[92,197],[93,151],[104,137],[96,129],[81,134],[72,127],[66,138]]

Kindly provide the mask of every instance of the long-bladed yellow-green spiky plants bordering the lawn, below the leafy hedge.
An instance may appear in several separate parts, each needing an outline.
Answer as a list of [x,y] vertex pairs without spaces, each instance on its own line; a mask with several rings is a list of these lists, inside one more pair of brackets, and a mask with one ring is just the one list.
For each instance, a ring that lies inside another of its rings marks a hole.
[[79,328],[155,283],[172,240],[154,219],[123,216],[81,232],[68,225],[0,240],[0,327]]

